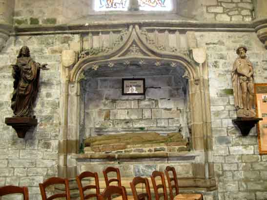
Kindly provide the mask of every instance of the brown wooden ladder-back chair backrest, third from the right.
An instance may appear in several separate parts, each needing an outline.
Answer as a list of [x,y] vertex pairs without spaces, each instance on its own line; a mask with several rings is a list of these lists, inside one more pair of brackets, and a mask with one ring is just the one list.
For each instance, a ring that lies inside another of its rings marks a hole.
[[[140,183],[143,183],[145,185],[145,191],[146,192],[137,194],[136,185],[140,184]],[[149,182],[148,182],[147,178],[135,177],[133,179],[133,181],[130,182],[130,186],[132,189],[134,200],[145,200],[145,198],[147,200],[151,200],[151,192],[150,192]]]

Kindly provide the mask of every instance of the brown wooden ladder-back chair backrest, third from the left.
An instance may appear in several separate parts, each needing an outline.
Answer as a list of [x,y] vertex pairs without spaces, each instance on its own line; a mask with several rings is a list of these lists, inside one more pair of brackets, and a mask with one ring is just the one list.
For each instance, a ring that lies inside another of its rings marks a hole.
[[[95,184],[94,185],[86,185],[82,187],[82,179],[84,178],[94,178],[95,179]],[[76,181],[78,183],[78,188],[79,188],[79,193],[80,193],[80,198],[81,200],[87,200],[92,197],[98,197],[100,194],[100,188],[99,188],[99,179],[98,179],[98,174],[93,173],[93,172],[82,172],[79,176],[76,177]],[[90,189],[95,189],[96,193],[84,195],[85,190],[90,190]]]

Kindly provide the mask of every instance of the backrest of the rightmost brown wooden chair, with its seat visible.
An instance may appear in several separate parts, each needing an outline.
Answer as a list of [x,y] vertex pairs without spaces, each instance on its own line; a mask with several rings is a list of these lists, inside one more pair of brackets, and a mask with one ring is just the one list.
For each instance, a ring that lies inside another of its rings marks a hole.
[[[172,173],[172,177],[170,177],[169,173]],[[179,194],[178,180],[176,176],[176,171],[174,167],[166,166],[165,175],[167,177],[167,182],[170,191],[170,200]],[[173,189],[175,188],[175,195],[173,194]]]

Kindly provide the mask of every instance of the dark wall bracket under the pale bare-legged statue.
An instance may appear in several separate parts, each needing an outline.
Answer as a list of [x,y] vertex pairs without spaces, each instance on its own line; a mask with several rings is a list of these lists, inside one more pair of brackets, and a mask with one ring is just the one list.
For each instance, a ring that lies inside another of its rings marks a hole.
[[235,120],[232,120],[240,129],[241,134],[243,136],[247,136],[250,129],[255,126],[255,124],[263,120],[262,118],[237,118]]

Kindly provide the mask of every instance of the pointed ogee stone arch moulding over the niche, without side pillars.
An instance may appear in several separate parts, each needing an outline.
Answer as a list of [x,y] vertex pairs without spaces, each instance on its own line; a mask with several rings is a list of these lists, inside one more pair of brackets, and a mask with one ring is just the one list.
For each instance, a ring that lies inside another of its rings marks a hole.
[[[138,53],[127,54],[131,51],[131,48],[138,48]],[[122,59],[154,59],[165,60],[171,62],[177,62],[185,69],[186,78],[198,82],[199,74],[197,72],[197,65],[194,60],[180,53],[170,53],[167,51],[159,51],[149,45],[144,36],[141,34],[141,30],[138,25],[134,27],[131,25],[128,30],[126,39],[121,46],[96,56],[88,56],[79,60],[70,71],[70,81],[78,81],[82,71],[92,68],[97,63],[105,63],[110,61],[122,60]]]

